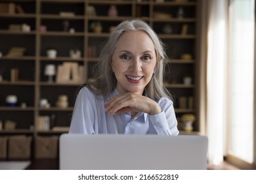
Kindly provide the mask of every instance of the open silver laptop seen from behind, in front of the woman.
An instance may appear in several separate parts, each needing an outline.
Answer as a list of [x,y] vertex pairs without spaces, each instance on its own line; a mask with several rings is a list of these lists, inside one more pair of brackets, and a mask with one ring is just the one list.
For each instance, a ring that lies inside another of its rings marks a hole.
[[60,136],[60,169],[207,169],[207,137],[200,135]]

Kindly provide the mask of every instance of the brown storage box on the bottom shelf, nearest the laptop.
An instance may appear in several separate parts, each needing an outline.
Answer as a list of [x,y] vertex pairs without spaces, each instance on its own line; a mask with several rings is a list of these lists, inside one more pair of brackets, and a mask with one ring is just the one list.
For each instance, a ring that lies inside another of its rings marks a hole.
[[35,158],[58,158],[58,136],[36,137]]

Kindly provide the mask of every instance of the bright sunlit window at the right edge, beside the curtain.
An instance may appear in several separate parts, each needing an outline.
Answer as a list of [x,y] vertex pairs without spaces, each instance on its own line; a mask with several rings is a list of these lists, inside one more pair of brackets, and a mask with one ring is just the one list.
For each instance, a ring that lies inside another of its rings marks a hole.
[[253,163],[254,0],[230,0],[228,155]]

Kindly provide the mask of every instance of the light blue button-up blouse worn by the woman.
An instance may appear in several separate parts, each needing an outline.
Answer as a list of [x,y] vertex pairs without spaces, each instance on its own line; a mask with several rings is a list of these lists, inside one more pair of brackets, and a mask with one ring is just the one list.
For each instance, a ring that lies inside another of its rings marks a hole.
[[117,90],[114,90],[104,98],[103,95],[95,95],[87,87],[81,88],[75,101],[69,133],[179,134],[173,102],[167,97],[156,101],[162,110],[159,114],[139,112],[131,118],[130,112],[114,116],[104,112],[104,103],[117,94]]

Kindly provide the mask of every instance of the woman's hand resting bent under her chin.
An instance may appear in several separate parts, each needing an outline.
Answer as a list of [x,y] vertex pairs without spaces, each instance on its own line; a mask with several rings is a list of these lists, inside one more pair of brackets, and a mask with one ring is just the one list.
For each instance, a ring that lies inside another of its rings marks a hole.
[[146,112],[154,115],[161,112],[161,108],[156,101],[131,92],[116,95],[107,101],[105,105],[105,112],[110,112],[110,115],[123,114],[125,112]]

